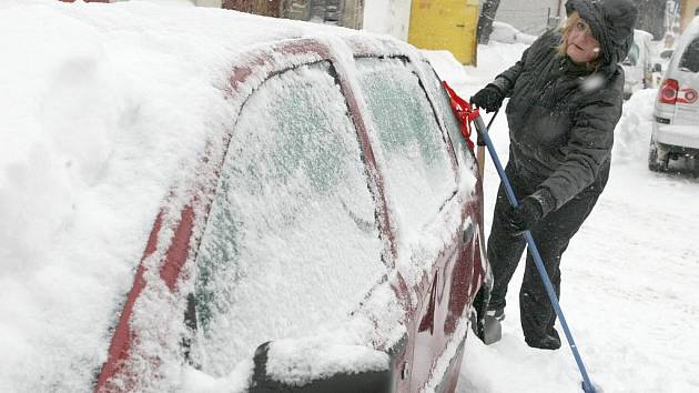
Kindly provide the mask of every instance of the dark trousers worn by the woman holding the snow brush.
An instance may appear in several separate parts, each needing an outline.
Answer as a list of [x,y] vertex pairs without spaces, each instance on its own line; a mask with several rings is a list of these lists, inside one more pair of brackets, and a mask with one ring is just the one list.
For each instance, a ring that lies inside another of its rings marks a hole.
[[[510,165],[507,165],[506,172],[518,201],[533,193],[539,184],[537,181],[518,175]],[[608,174],[609,169],[606,168],[594,184],[560,209],[550,212],[531,229],[531,235],[557,296],[560,296],[560,256],[568,248],[568,242],[573,235],[592,210],[607,182]],[[507,284],[513,278],[526,246],[524,235],[510,232],[505,224],[504,213],[507,209],[509,209],[509,202],[505,194],[505,188],[500,183],[487,250],[494,276],[489,310],[505,308]],[[521,329],[526,339],[537,340],[546,334],[553,334],[556,313],[548,300],[544,282],[530,253],[527,253],[524,281],[519,291],[519,311]]]

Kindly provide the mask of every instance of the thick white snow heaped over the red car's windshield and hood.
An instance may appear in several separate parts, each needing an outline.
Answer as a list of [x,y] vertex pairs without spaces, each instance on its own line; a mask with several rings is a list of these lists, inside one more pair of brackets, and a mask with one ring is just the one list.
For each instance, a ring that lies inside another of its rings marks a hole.
[[[338,34],[354,32],[138,1],[0,3],[0,391],[91,389],[163,201],[232,127],[236,53]],[[379,312],[384,286],[372,319],[396,316]]]

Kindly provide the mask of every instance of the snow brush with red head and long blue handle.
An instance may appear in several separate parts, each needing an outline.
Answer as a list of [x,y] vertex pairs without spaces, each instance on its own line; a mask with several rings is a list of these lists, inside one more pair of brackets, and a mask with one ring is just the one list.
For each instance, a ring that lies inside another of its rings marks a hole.
[[[462,123],[462,134],[466,138],[469,148],[472,150],[474,148],[473,142],[469,139],[470,137],[469,122],[473,122],[476,128],[476,132],[478,133],[479,142],[480,140],[485,142],[486,148],[488,149],[488,153],[490,154],[490,158],[493,159],[493,163],[495,164],[495,168],[497,169],[497,173],[500,177],[503,184],[505,185],[507,200],[509,201],[509,204],[516,209],[519,205],[519,202],[517,202],[517,198],[515,196],[515,192],[513,191],[509,179],[507,178],[507,174],[505,173],[505,170],[503,169],[503,164],[500,163],[497,152],[495,151],[493,141],[490,140],[490,137],[488,135],[488,128],[486,128],[485,122],[480,118],[480,114],[478,113],[478,109],[477,108],[472,109],[470,103],[466,102],[464,99],[458,97],[454,92],[454,90],[449,88],[449,85],[446,82],[444,82],[443,85],[446,89],[447,93],[449,94],[452,109],[454,111],[454,114],[458,118],[458,120]],[[496,115],[497,115],[497,112],[493,114],[493,119],[490,119],[488,127],[493,123],[493,120],[495,120]],[[556,296],[556,292],[554,291],[554,285],[551,284],[551,281],[548,278],[548,273],[546,272],[546,266],[544,266],[544,261],[541,260],[539,250],[536,246],[536,243],[534,242],[531,232],[525,231],[524,236],[527,240],[528,250],[531,253],[531,256],[534,258],[536,269],[539,272],[539,276],[541,278],[541,281],[544,282],[544,286],[546,286],[546,293],[548,294],[548,299],[550,300],[551,305],[554,306],[554,310],[556,311],[556,315],[558,316],[558,320],[560,321],[560,325],[563,326],[564,333],[566,334],[566,339],[568,340],[568,344],[570,345],[570,351],[573,352],[573,356],[575,357],[578,369],[580,370],[580,374],[582,375],[582,382],[580,383],[582,391],[585,393],[604,393],[601,389],[592,385],[592,382],[590,381],[590,377],[587,374],[587,370],[585,369],[585,364],[582,363],[582,357],[580,357],[580,353],[578,352],[578,346],[575,343],[575,340],[573,339],[573,333],[570,333],[570,329],[568,329],[568,322],[566,322],[566,318],[564,316],[563,310],[560,309],[560,304],[558,303],[558,296]]]

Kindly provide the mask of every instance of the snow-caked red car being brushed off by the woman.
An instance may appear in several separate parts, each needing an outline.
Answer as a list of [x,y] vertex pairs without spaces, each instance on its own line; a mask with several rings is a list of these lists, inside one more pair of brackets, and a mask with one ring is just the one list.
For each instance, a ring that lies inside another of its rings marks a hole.
[[488,271],[474,154],[417,50],[318,29],[231,59],[234,125],[154,218],[97,392],[455,390]]

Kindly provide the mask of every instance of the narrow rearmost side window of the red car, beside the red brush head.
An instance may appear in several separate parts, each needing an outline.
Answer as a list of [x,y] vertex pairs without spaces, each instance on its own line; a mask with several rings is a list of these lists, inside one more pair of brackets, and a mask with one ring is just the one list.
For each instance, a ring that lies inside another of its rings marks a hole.
[[[449,97],[444,90],[442,85],[442,81],[432,69],[429,63],[424,61],[422,63],[422,69],[425,74],[426,81],[425,87],[434,97],[437,114],[446,125],[448,137],[450,139],[452,145],[454,147],[454,152],[458,159],[459,164],[470,165],[474,163],[473,155],[469,153],[469,148],[462,135],[462,125],[456,120],[454,112],[452,111],[452,104],[449,103]],[[473,135],[475,141],[475,135]]]

